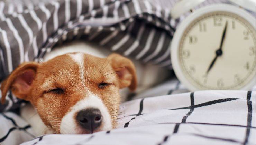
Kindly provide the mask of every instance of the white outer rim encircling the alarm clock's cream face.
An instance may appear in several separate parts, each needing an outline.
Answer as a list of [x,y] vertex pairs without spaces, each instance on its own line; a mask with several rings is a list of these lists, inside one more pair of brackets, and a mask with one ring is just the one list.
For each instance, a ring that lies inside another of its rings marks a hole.
[[[230,4],[213,4],[210,6],[206,6],[196,10],[195,12],[190,14],[188,17],[186,17],[177,27],[176,32],[173,36],[173,40],[171,43],[171,62],[177,78],[181,81],[181,83],[183,83],[191,91],[202,90],[202,89],[193,85],[188,79],[186,79],[185,75],[183,74],[181,66],[179,65],[180,62],[178,58],[179,43],[181,41],[181,38],[186,28],[196,18],[199,18],[207,13],[218,12],[218,11],[237,14],[238,16],[245,19],[248,23],[250,23],[250,25],[252,25],[255,29],[255,18],[251,14],[243,10],[242,8],[232,6]],[[254,78],[251,81],[249,81],[249,83],[245,85],[243,88],[240,88],[240,90],[249,90],[250,88],[252,88],[253,85],[255,85],[255,82],[256,82],[255,79],[256,77],[254,76]]]

